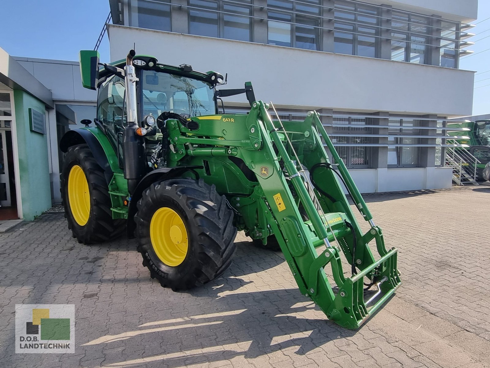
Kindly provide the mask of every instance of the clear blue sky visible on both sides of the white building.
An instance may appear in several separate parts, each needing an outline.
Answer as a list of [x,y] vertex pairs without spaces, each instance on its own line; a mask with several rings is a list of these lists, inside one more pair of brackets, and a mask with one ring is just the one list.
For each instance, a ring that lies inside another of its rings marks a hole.
[[[78,60],[78,51],[92,50],[109,14],[108,0],[0,0],[2,36],[0,47],[13,56]],[[480,0],[477,26],[471,30],[478,41],[468,47],[460,68],[476,71],[473,114],[490,113],[490,1]],[[481,23],[479,23],[481,22]],[[489,36],[489,37],[487,37]],[[487,38],[484,38],[487,37]],[[99,48],[100,60],[109,61],[107,35]],[[482,52],[482,53],[479,53]],[[478,53],[478,54],[476,54]],[[485,73],[489,71],[488,73]],[[487,79],[489,78],[489,79]]]

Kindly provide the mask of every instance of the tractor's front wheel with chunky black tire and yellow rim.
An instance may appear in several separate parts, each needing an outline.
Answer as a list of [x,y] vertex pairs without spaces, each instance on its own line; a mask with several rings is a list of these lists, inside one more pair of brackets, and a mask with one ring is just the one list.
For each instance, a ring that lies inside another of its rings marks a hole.
[[203,180],[151,184],[134,219],[143,265],[162,287],[177,291],[205,284],[232,261],[237,235],[233,211],[226,197]]

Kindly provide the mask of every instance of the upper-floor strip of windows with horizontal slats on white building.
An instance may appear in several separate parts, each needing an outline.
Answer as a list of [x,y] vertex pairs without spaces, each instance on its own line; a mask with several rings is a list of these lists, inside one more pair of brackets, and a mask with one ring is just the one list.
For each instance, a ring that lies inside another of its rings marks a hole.
[[447,68],[458,67],[464,34],[457,22],[354,0],[184,3],[129,0],[129,25],[250,42],[265,32],[257,42]]

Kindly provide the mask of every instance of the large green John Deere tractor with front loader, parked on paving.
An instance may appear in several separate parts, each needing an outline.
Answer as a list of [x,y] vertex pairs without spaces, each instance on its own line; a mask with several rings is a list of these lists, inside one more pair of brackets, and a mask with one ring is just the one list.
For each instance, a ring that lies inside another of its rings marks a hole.
[[[86,128],[60,142],[63,204],[80,243],[113,239],[125,227],[150,276],[177,291],[221,275],[244,231],[282,251],[301,293],[350,329],[400,286],[397,249],[386,249],[317,112],[274,121],[273,106],[256,101],[249,82],[218,89],[221,74],[190,65],[134,51],[112,64],[98,57],[80,52],[82,84],[98,89],[95,126],[82,121]],[[225,113],[218,101],[237,94],[250,111]],[[365,234],[343,187],[368,222]]]

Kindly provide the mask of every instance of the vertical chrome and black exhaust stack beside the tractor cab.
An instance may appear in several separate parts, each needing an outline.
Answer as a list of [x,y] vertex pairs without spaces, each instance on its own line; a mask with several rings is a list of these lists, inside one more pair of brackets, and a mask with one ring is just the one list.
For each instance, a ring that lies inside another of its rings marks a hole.
[[133,66],[134,50],[126,56],[124,66],[124,84],[126,86],[126,128],[124,129],[124,179],[127,179],[129,195],[134,193],[136,185],[146,173],[145,138],[136,134],[138,128],[138,108],[136,97],[136,77]]

